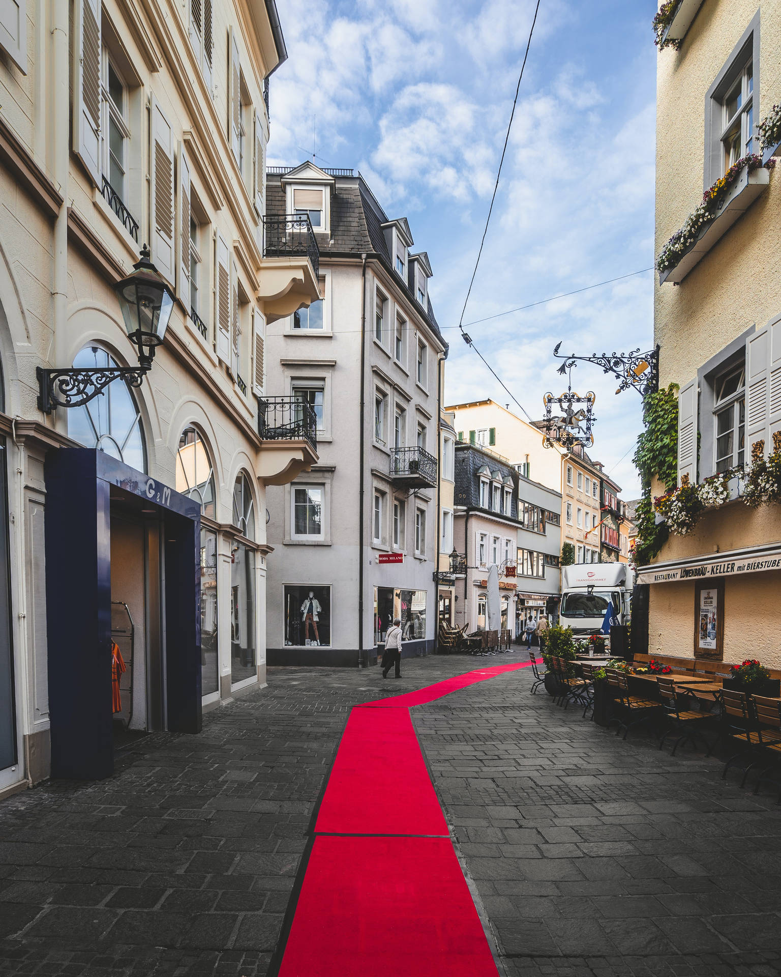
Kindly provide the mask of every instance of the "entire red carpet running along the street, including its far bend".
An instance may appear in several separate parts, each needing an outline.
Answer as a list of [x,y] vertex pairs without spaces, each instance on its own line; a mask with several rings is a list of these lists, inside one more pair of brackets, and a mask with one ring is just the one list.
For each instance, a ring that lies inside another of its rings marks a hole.
[[479,668],[352,709],[280,977],[497,977],[409,707],[528,664]]

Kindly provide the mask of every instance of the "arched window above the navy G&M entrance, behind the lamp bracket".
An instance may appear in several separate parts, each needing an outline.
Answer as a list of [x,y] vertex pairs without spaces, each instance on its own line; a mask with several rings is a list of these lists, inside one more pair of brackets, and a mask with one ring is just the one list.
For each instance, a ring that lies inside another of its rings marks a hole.
[[[83,349],[74,359],[77,369],[116,366],[97,346]],[[67,434],[85,447],[97,447],[140,472],[146,471],[146,446],[141,413],[130,387],[117,377],[89,404],[67,411]]]

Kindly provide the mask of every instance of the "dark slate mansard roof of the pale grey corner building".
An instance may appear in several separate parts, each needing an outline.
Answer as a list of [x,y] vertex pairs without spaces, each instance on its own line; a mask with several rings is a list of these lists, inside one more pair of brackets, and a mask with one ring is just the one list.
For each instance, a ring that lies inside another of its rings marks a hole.
[[[279,173],[267,174],[267,215],[269,217],[283,216],[285,207],[286,199],[285,190],[282,186],[282,175]],[[357,177],[343,179],[337,176],[331,189],[330,234],[318,233],[317,229],[314,229],[317,245],[320,249],[320,258],[345,257],[346,255],[359,258],[362,254],[379,258],[386,266],[387,271],[394,276],[394,280],[406,291],[410,303],[424,319],[428,319],[432,332],[441,341],[445,353],[447,353],[448,344],[443,338],[439,324],[434,317],[432,300],[428,299],[427,308],[421,309],[410,283],[402,281],[393,270],[393,261],[382,229],[382,225],[388,221],[388,216],[360,173]]]

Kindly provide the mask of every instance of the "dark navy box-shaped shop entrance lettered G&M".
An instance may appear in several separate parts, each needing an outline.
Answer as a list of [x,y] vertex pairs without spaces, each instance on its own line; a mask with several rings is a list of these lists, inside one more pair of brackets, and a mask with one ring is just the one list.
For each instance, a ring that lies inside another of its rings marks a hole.
[[88,448],[51,451],[46,488],[52,776],[98,780],[130,734],[200,732],[200,507]]

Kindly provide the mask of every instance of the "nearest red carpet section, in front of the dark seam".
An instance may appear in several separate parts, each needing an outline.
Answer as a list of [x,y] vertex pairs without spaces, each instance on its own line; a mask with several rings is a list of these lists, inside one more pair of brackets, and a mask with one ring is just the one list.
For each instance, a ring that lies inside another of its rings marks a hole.
[[314,841],[280,977],[497,977],[446,838]]

